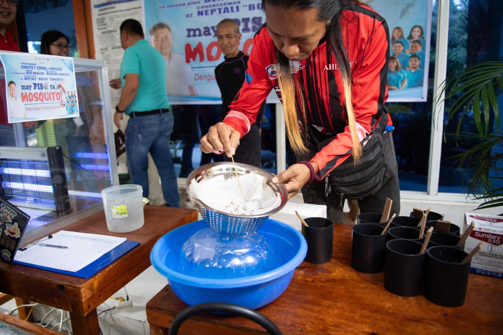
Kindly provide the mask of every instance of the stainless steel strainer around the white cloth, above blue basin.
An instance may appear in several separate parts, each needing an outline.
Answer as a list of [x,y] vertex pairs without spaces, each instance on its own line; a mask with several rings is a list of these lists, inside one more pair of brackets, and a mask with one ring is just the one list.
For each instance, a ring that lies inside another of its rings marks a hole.
[[197,183],[202,183],[205,179],[221,175],[226,175],[225,177],[228,178],[235,178],[234,166],[231,162],[211,163],[198,167],[187,177],[187,191],[196,199],[199,204],[201,216],[211,227],[233,235],[244,235],[257,231],[267,221],[269,215],[281,210],[288,201],[288,192],[285,185],[282,183],[274,184],[271,181],[274,177],[273,174],[259,167],[242,163],[236,163],[236,167],[239,176],[255,173],[264,177],[264,182],[262,184],[263,191],[270,192],[281,198],[280,204],[271,211],[261,215],[228,214],[211,208],[208,204],[198,199],[196,195],[191,194],[189,186],[193,179],[195,179]]

